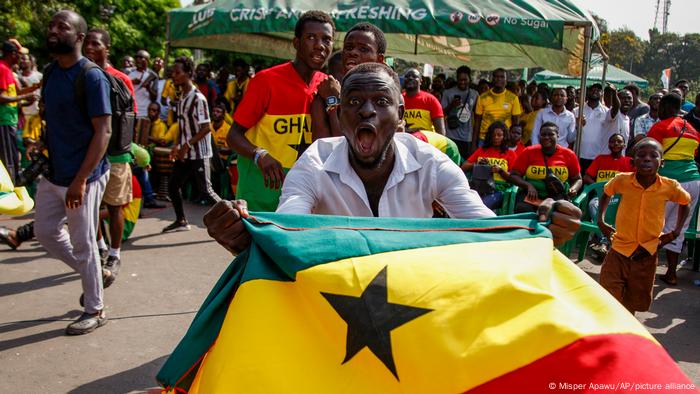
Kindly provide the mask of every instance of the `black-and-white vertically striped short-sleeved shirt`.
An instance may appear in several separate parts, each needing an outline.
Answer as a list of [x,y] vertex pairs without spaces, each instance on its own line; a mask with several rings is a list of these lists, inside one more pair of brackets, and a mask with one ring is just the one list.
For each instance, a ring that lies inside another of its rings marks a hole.
[[[209,107],[204,95],[192,86],[192,90],[177,103],[177,124],[180,128],[179,145],[191,140],[201,130],[202,125],[210,123]],[[188,160],[209,159],[213,156],[211,133],[190,147]]]

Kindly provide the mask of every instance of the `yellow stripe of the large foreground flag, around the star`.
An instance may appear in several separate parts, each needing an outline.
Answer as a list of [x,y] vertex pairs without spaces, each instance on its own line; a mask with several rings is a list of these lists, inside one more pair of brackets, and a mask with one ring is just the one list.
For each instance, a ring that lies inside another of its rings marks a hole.
[[[390,333],[398,379],[321,293],[360,297],[386,267],[388,302],[431,311]],[[238,289],[191,392],[457,393],[588,335],[653,340],[550,239],[403,250]]]

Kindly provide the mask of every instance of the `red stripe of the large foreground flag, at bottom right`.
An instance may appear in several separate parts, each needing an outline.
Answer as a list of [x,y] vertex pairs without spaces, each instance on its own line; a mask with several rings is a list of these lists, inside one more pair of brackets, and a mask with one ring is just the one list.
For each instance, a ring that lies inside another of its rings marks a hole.
[[469,390],[483,393],[697,393],[658,344],[633,334],[589,336]]

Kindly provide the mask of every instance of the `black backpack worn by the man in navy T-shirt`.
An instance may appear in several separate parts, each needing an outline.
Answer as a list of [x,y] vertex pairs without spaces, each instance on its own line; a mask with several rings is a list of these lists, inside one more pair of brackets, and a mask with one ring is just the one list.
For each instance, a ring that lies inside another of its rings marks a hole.
[[[49,75],[58,67],[56,62],[51,63],[44,70],[44,81],[49,80]],[[109,101],[112,106],[112,136],[107,146],[107,154],[110,156],[131,153],[131,141],[134,139],[134,127],[136,124],[136,114],[134,113],[134,97],[129,88],[112,74],[106,72],[97,64],[87,61],[83,64],[80,73],[75,79],[75,101],[78,103],[80,112],[87,117],[87,98],[85,95],[85,75],[97,68],[102,71],[109,82]],[[44,84],[41,86],[41,97],[44,97]]]

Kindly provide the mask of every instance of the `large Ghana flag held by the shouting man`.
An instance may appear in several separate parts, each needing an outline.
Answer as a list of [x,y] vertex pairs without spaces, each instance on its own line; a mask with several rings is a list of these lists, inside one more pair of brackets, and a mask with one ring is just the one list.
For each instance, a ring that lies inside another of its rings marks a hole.
[[583,384],[601,392],[629,383],[692,391],[644,327],[553,249],[534,216],[253,214],[245,225],[252,245],[159,372],[166,390],[511,393]]

